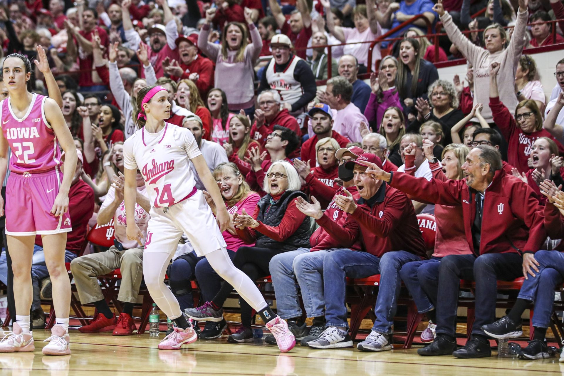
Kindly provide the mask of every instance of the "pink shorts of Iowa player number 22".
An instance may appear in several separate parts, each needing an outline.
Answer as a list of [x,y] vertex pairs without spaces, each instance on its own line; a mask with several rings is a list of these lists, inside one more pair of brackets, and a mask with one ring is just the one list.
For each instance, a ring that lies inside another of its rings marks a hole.
[[63,179],[59,167],[39,172],[11,172],[6,184],[6,235],[52,235],[72,231],[69,213],[51,214]]

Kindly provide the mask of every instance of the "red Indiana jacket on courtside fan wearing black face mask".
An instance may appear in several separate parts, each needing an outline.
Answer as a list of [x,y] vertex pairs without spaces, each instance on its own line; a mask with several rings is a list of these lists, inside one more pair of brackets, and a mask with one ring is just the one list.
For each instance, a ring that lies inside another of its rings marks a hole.
[[[334,197],[338,196],[339,194],[344,194],[343,191],[345,191],[345,188],[343,187],[337,189],[337,192],[335,192],[333,196],[333,200],[329,202],[327,209],[325,209],[325,213],[323,213],[324,216],[327,216],[334,223],[340,226],[345,224],[345,220],[347,219],[347,216],[349,216],[349,213],[345,213],[337,206],[337,204],[335,204]],[[351,187],[347,188],[347,191],[352,194],[352,198],[354,198],[355,202],[358,201],[360,194],[358,193],[358,189],[356,189],[356,185],[352,185]],[[323,207],[324,206],[321,206],[321,208]],[[333,238],[331,234],[329,234],[323,227],[320,226],[314,231],[314,233],[311,234],[310,251],[314,252],[337,248],[338,246],[340,246],[340,243],[341,242],[338,239]],[[360,251],[360,239],[356,240],[355,244],[353,244],[350,249]]]

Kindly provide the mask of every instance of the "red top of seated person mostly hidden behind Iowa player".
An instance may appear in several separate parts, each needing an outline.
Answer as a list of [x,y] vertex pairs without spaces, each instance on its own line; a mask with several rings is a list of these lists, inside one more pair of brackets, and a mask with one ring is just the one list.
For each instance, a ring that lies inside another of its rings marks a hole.
[[[69,216],[72,231],[67,233],[66,250],[78,253],[86,241],[88,221],[94,213],[94,190],[78,179],[69,189]],[[36,236],[35,244],[42,247],[41,235]]]

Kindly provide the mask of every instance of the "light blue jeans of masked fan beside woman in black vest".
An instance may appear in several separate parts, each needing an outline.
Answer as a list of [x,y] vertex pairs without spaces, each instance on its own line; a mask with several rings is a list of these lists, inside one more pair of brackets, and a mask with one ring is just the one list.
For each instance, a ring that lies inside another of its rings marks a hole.
[[323,297],[323,259],[335,248],[310,252],[309,248],[278,254],[270,260],[268,269],[276,294],[278,315],[285,320],[302,316],[298,286],[302,291],[303,307],[307,317],[325,316]]

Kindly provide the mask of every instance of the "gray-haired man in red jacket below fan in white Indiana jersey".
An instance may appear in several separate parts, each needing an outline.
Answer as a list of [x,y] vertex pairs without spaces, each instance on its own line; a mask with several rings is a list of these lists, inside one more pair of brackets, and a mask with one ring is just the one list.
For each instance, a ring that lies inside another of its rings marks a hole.
[[264,148],[268,135],[274,131],[275,125],[281,125],[301,135],[296,118],[287,109],[280,110],[280,94],[276,90],[265,90],[258,95],[258,108],[254,112],[254,123],[250,129],[250,137]]

